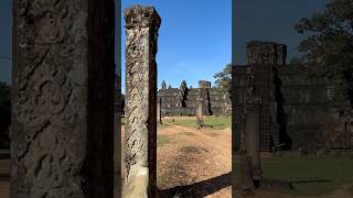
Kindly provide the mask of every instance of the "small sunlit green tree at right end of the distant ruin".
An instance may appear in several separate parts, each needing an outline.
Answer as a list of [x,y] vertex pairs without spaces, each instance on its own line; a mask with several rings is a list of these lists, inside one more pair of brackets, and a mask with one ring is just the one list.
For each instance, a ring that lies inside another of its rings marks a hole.
[[231,80],[232,80],[232,65],[227,64],[223,70],[213,75],[216,79],[214,81],[215,88],[226,92],[231,90]]

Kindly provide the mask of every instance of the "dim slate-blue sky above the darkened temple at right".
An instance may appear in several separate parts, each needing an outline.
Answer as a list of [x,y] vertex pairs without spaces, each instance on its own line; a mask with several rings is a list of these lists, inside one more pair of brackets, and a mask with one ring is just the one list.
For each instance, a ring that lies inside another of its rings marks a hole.
[[237,64],[246,63],[246,42],[272,41],[288,46],[287,61],[293,56],[302,36],[293,25],[302,18],[320,12],[329,0],[235,0]]

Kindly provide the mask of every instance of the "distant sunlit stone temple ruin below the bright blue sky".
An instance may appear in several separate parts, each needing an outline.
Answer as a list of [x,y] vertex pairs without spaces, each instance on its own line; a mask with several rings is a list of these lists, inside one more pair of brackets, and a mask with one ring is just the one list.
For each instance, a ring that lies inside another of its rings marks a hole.
[[211,82],[199,81],[199,88],[188,88],[185,80],[180,88],[165,88],[163,80],[158,98],[161,101],[161,116],[196,116],[200,100],[205,116],[231,116],[232,101],[228,92],[211,88]]

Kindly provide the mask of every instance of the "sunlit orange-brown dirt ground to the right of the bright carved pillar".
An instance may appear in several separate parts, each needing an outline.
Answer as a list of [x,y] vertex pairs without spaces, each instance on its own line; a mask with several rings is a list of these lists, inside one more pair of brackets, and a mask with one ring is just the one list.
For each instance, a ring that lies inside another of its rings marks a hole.
[[159,146],[158,186],[164,196],[232,197],[231,130],[160,129],[171,143]]

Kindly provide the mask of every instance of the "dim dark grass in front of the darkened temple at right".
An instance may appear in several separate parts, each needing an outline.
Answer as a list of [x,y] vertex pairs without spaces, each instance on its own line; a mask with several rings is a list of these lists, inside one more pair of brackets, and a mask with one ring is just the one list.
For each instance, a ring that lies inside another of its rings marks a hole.
[[282,157],[263,158],[261,167],[265,178],[293,182],[293,189],[281,191],[285,194],[323,195],[353,184],[352,158],[286,153]]

